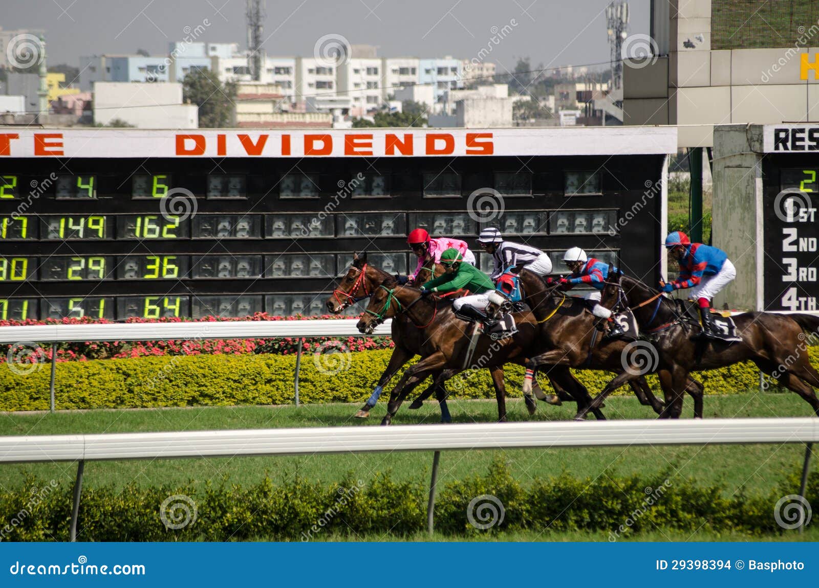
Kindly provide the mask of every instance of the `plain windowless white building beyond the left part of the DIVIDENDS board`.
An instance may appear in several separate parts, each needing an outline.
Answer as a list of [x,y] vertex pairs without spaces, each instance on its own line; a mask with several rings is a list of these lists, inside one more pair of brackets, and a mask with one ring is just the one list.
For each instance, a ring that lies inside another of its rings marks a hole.
[[137,128],[198,128],[199,110],[182,103],[181,83],[94,83],[94,123],[124,120]]

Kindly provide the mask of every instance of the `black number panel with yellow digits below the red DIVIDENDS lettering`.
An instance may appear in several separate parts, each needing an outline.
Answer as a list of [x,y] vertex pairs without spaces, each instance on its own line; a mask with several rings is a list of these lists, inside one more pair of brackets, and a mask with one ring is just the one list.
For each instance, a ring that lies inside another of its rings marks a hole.
[[[475,254],[498,227],[547,251],[555,274],[577,245],[659,278],[663,155],[209,161],[0,161],[0,320],[323,314],[354,252],[414,270],[415,227]],[[172,205],[179,189],[192,209]],[[483,190],[503,213],[469,213]]]

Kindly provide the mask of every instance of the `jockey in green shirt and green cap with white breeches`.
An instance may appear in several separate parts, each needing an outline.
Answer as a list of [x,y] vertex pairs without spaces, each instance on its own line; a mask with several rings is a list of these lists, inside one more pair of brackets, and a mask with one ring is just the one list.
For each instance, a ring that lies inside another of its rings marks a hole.
[[421,286],[421,295],[469,290],[473,294],[452,301],[452,310],[464,321],[482,321],[487,328],[494,325],[496,321],[486,316],[486,307],[490,302],[500,305],[505,298],[495,292],[489,277],[477,267],[464,263],[463,254],[455,248],[441,254],[441,264],[446,266],[446,273]]

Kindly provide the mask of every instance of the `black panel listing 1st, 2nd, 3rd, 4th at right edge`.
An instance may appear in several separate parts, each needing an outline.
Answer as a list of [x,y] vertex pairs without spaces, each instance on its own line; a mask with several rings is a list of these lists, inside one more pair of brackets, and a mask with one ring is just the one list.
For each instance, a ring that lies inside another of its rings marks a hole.
[[765,310],[815,311],[819,155],[762,159]]

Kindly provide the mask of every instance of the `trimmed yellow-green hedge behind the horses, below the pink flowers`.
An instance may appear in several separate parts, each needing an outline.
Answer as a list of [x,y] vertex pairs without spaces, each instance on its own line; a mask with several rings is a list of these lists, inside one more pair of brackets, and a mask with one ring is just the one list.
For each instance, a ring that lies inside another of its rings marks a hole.
[[[333,351],[334,347],[323,351]],[[345,352],[312,356],[301,361],[301,402],[361,402],[369,397],[387,367],[391,350]],[[812,353],[813,357],[819,354]],[[816,364],[819,367],[819,362]],[[48,364],[16,373],[0,369],[0,411],[47,410]],[[267,405],[293,402],[292,355],[174,356],[138,359],[66,362],[57,365],[56,396],[60,409],[132,408],[149,406]],[[592,393],[599,392],[612,375],[576,370],[575,375]],[[736,364],[696,375],[707,393],[742,393],[758,388],[753,364]],[[395,384],[396,379],[393,380]],[[508,366],[509,396],[520,396],[523,368]],[[546,380],[541,384],[548,391]],[[649,384],[658,389],[654,376]],[[493,398],[488,370],[470,371],[450,380],[453,397]],[[622,388],[620,393],[626,393]],[[382,399],[386,399],[383,395]]]

